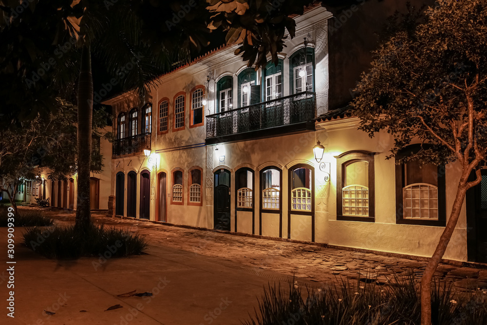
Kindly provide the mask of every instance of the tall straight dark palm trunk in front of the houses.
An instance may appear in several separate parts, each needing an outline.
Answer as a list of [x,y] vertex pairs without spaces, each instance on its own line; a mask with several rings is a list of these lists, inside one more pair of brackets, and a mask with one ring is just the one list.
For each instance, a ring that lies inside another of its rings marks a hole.
[[83,46],[78,81],[78,192],[75,227],[85,231],[90,225],[90,166],[92,151],[93,77],[90,46]]

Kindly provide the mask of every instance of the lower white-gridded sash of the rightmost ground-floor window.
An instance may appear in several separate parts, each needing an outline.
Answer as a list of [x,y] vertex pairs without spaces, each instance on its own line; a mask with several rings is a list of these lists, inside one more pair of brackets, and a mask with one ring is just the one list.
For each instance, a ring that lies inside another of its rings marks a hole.
[[438,188],[417,183],[403,188],[404,218],[438,220]]

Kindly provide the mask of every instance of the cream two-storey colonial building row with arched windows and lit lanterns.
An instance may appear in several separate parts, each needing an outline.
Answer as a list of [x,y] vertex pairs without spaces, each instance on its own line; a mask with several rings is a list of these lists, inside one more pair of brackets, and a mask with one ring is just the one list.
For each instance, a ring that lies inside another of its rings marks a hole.
[[[458,166],[395,165],[385,159],[389,134],[357,130],[330,93],[339,71],[330,60],[343,51],[331,48],[330,19],[321,6],[297,17],[277,66],[247,68],[224,46],[160,76],[143,105],[133,93],[105,101],[116,134],[113,214],[431,256]],[[469,194],[445,258],[486,260],[486,182]]]

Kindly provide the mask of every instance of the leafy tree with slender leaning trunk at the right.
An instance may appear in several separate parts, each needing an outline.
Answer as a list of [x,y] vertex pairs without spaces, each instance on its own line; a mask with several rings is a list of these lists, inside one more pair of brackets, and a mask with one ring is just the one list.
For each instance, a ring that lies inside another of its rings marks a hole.
[[[409,25],[411,26],[411,25]],[[467,190],[481,182],[487,151],[487,2],[438,0],[415,29],[399,28],[376,52],[353,101],[360,129],[395,138],[389,158],[418,140],[410,159],[457,162],[461,174],[446,227],[421,280],[421,324],[431,324],[431,280],[457,224]],[[471,174],[475,180],[469,180]]]

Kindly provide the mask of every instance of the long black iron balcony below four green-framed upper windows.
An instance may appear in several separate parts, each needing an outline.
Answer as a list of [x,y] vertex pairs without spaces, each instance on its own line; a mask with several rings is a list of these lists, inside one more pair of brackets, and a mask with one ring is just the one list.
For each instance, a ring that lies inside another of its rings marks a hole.
[[315,130],[316,94],[303,92],[206,116],[206,144]]

